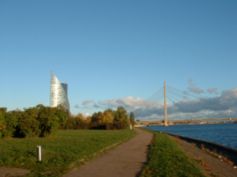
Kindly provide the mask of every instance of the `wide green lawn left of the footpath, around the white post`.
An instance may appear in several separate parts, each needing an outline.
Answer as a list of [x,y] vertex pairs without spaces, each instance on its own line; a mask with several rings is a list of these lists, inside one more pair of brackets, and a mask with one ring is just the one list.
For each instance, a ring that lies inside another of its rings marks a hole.
[[[129,130],[64,130],[48,138],[2,139],[0,166],[29,169],[30,177],[59,177],[133,135]],[[43,148],[41,163],[36,158],[37,145]]]

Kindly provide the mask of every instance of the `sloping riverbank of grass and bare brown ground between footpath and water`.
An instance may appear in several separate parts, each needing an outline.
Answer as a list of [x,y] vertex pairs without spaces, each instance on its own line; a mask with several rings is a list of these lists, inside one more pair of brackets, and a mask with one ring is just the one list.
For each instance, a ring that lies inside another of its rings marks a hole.
[[236,177],[237,169],[228,158],[199,144],[154,132],[141,177]]

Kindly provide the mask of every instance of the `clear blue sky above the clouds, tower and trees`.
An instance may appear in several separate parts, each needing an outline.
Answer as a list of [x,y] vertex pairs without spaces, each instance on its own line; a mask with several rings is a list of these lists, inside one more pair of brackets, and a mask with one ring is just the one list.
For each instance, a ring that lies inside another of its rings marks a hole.
[[85,100],[149,98],[164,80],[235,89],[236,9],[235,0],[1,0],[0,106],[48,105],[51,71],[69,84],[74,113]]

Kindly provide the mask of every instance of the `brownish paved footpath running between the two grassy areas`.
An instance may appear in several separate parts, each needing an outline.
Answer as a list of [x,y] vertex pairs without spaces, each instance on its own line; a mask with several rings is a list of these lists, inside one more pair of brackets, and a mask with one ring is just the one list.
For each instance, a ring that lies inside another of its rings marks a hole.
[[63,177],[136,177],[147,160],[148,145],[152,134],[136,130],[131,140],[75,168]]

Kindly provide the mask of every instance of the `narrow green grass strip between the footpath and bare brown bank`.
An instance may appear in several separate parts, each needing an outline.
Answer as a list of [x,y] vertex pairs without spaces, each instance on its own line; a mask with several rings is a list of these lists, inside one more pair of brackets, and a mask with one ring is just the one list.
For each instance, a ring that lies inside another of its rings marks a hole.
[[204,177],[168,135],[155,133],[141,177]]

